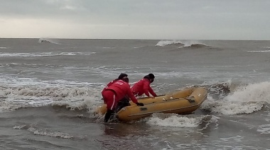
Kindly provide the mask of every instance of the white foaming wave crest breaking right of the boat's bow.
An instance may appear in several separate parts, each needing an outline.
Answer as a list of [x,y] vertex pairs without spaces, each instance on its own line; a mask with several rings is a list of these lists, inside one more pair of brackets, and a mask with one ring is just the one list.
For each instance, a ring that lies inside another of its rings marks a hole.
[[225,115],[249,114],[261,110],[264,103],[270,103],[270,82],[239,86],[222,100],[208,96],[201,108]]

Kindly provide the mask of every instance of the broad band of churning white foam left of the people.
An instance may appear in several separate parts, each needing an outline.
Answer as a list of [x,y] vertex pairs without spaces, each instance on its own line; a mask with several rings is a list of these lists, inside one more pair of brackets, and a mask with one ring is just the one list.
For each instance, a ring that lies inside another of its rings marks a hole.
[[91,84],[3,77],[0,78],[0,112],[50,104],[94,112],[97,105],[102,103],[100,92],[103,86],[92,88]]

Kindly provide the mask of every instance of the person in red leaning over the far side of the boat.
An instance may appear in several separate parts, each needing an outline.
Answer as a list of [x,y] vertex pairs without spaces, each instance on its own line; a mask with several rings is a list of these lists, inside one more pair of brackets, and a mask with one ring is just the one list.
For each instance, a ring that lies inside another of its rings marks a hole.
[[[145,94],[148,98],[155,98],[157,95],[150,86],[150,83],[153,83],[155,76],[153,74],[148,74],[144,76],[144,79],[136,82],[134,86],[131,87],[131,91],[135,96],[141,96]],[[150,96],[150,94],[152,96]]]

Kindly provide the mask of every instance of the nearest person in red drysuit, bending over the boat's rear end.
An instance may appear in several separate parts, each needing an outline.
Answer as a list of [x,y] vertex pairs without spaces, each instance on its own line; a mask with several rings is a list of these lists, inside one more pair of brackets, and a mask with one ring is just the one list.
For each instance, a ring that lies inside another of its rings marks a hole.
[[129,98],[131,98],[131,100],[136,103],[136,105],[144,106],[144,103],[139,103],[131,92],[131,88],[129,86],[129,79],[126,76],[124,76],[124,78],[121,80],[114,81],[112,85],[102,91],[102,97],[104,99],[104,102],[107,104],[107,113],[105,114],[104,122],[109,121],[109,118],[114,113],[114,109],[117,103],[126,95],[129,96]]

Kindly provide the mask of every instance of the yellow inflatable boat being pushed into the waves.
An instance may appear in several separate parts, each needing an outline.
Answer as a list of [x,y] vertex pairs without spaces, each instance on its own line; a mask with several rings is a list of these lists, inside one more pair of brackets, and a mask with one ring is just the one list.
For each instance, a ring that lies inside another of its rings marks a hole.
[[[131,105],[122,108],[116,115],[120,121],[129,122],[148,117],[153,113],[188,114],[197,110],[206,98],[205,88],[184,88],[156,98],[139,98],[139,102],[144,103],[144,106],[137,106],[130,101]],[[97,109],[97,113],[106,112],[105,104]]]

